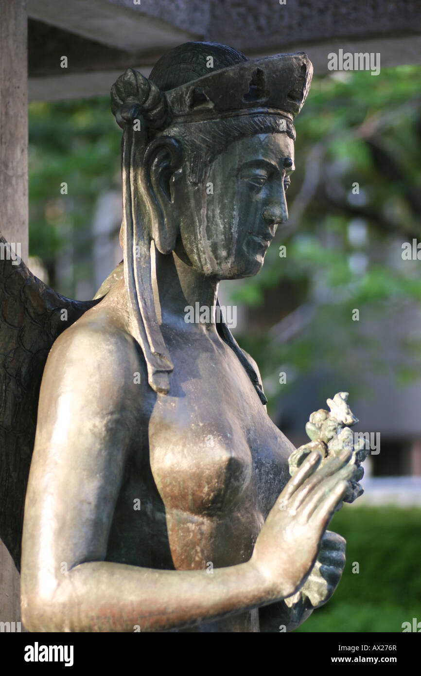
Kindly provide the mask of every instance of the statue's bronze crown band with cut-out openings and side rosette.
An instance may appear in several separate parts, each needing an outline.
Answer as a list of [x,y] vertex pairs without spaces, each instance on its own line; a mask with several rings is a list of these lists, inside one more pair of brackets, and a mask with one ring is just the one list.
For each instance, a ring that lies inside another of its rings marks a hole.
[[120,126],[143,116],[155,129],[261,113],[284,118],[280,131],[295,136],[293,120],[303,107],[312,75],[305,53],[276,54],[227,66],[162,92],[129,68],[112,87],[112,112]]

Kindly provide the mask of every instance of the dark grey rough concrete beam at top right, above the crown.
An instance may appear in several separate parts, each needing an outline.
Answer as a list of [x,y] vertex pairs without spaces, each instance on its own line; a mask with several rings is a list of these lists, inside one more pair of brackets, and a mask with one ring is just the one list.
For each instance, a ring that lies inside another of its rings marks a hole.
[[[206,37],[247,53],[290,45],[421,34],[419,0],[228,0],[212,3]],[[342,46],[342,45],[340,45]],[[373,49],[369,49],[373,51]]]

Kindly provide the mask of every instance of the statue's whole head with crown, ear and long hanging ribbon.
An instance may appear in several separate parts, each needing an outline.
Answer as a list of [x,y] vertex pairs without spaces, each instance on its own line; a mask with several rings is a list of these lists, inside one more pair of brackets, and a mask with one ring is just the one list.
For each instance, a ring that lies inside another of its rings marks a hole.
[[187,43],[149,80],[129,69],[112,88],[124,130],[124,274],[156,391],[166,391],[159,373],[172,366],[146,297],[151,241],[216,280],[259,271],[288,218],[293,119],[311,78],[303,53],[250,62],[224,45]]

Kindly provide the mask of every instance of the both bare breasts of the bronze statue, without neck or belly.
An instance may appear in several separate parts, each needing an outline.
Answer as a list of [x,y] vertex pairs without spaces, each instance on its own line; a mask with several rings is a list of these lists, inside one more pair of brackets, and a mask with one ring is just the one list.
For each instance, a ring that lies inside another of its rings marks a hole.
[[158,397],[149,458],[166,508],[212,516],[247,504],[267,513],[282,490],[292,447],[282,448],[283,435],[241,370],[187,379],[174,396]]

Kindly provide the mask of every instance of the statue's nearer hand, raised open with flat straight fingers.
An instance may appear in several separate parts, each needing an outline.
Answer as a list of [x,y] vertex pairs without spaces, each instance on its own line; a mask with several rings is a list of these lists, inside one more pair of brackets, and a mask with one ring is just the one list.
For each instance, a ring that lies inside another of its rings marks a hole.
[[257,537],[251,560],[274,598],[295,594],[312,570],[324,531],[348,483],[345,450],[319,467],[317,450],[285,486]]

